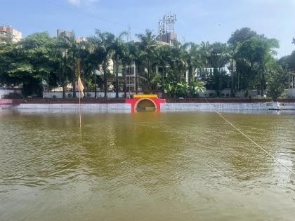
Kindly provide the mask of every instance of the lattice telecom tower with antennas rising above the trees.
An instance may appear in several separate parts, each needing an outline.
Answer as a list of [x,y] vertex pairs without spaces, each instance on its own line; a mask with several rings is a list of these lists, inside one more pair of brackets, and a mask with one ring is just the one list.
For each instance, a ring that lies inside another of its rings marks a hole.
[[177,35],[174,33],[176,21],[176,14],[171,14],[171,12],[159,19],[159,41],[171,44],[171,41],[177,39]]

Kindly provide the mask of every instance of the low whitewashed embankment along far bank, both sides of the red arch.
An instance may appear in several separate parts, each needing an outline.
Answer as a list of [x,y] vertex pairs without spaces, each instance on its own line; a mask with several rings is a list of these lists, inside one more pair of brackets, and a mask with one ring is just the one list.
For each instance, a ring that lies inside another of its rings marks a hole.
[[[4,100],[3,100],[4,101]],[[79,109],[79,99],[17,99],[9,100],[11,105],[6,107],[12,109]],[[162,110],[268,110],[276,107],[275,102],[268,99],[241,99],[241,98],[190,98],[176,99],[169,98],[166,103],[160,105]],[[294,99],[279,100],[280,109],[295,109]],[[1,105],[4,107],[5,105]],[[4,107],[5,108],[5,107]],[[126,103],[125,99],[83,99],[81,109],[90,110],[124,110],[131,111],[131,104]]]

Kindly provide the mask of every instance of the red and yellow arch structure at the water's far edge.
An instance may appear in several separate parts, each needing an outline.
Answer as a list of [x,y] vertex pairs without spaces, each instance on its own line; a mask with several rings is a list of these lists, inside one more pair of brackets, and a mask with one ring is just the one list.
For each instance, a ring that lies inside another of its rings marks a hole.
[[[133,98],[126,99],[126,104],[131,104],[131,111],[134,111],[143,106],[153,106],[156,110],[161,109],[161,104],[166,103],[165,99],[159,99],[158,95],[133,95]],[[150,104],[148,104],[150,103]]]

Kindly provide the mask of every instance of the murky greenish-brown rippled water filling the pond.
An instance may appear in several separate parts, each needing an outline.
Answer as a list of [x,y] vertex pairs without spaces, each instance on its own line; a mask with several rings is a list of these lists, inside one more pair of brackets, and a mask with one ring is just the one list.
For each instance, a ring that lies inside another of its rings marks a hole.
[[[295,172],[295,114],[223,114]],[[0,112],[0,220],[294,220],[295,178],[214,112]]]

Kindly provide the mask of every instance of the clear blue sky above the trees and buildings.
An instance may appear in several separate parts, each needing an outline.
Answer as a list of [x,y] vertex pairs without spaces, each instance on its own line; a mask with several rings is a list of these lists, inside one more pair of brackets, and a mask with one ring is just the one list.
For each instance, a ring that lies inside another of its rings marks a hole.
[[295,0],[0,0],[0,25],[11,25],[23,36],[56,29],[91,36],[95,29],[135,34],[151,29],[171,11],[178,21],[178,40],[226,42],[232,32],[250,27],[280,41],[278,57],[295,50]]

